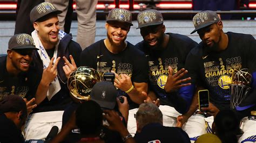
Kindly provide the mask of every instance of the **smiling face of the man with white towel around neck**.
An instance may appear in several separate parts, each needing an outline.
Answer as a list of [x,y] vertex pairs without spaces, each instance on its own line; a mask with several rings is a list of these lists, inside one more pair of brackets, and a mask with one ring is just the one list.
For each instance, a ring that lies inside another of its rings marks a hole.
[[44,48],[52,48],[58,43],[58,32],[60,27],[56,14],[50,15],[43,22],[33,23],[33,26],[38,31],[38,37],[44,45]]

